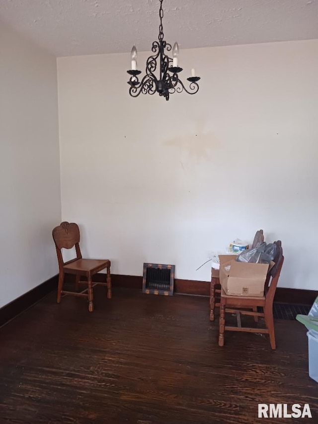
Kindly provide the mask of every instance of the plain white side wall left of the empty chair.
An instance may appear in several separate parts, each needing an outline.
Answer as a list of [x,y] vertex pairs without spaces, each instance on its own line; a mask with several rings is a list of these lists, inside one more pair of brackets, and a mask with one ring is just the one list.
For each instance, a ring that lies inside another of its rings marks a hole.
[[55,275],[56,59],[0,24],[0,307]]

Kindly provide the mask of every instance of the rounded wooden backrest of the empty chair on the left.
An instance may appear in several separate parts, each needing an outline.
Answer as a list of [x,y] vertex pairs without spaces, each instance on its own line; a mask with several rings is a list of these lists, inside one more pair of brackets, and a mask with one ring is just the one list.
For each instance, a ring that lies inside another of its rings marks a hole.
[[[58,255],[59,267],[63,267],[65,263],[74,262],[77,259],[81,259],[81,253],[79,249],[79,226],[74,222],[69,223],[67,221],[62,222],[58,227],[55,227],[52,231],[53,240],[56,247],[56,253]],[[72,249],[75,246],[76,258],[64,262],[61,249]]]

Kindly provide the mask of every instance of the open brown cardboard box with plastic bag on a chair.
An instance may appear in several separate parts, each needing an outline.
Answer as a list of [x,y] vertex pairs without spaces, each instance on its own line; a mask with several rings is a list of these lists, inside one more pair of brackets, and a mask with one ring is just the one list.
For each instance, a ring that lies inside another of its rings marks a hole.
[[220,283],[231,296],[264,295],[264,285],[269,269],[268,263],[238,262],[237,255],[220,255]]

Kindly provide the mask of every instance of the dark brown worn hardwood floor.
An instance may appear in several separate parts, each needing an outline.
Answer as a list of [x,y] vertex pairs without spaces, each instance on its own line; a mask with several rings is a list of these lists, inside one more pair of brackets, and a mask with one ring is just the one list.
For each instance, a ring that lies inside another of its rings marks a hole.
[[276,351],[247,333],[219,347],[207,298],[94,294],[93,313],[52,293],[0,329],[0,423],[254,424],[258,403],[308,403],[312,420],[287,422],[318,422],[300,323],[276,320]]

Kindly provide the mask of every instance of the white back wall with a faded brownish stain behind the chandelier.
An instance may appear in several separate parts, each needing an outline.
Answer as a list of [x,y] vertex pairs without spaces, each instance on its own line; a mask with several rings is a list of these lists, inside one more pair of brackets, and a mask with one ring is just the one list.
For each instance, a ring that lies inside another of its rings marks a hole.
[[[144,69],[148,55],[139,55]],[[210,280],[211,251],[281,239],[280,286],[317,290],[318,40],[180,51],[198,94],[128,95],[129,54],[58,59],[63,220],[83,253]]]

